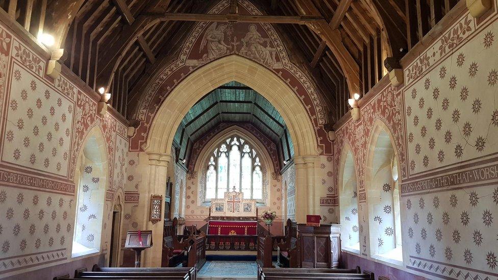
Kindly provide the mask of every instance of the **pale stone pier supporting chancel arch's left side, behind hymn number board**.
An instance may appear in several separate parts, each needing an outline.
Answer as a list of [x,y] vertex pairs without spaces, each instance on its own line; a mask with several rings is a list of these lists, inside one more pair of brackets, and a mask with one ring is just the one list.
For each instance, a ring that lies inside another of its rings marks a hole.
[[[146,166],[142,177],[144,186],[140,191],[139,207],[142,213],[142,226],[143,230],[152,230],[153,246],[143,251],[142,253],[142,267],[161,267],[162,245],[163,245],[163,230],[164,230],[164,209],[161,213],[161,221],[153,224],[150,221],[150,208],[151,208],[151,195],[166,194],[166,179],[167,179],[167,166],[171,161],[171,155],[158,152],[146,152],[148,158],[148,165]],[[163,203],[164,207],[164,203]]]

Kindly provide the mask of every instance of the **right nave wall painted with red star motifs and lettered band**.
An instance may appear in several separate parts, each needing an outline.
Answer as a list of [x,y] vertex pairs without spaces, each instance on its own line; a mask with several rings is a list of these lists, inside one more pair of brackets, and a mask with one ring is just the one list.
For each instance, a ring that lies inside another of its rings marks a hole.
[[383,79],[385,86],[360,104],[361,120],[337,130],[334,162],[344,143],[355,150],[363,260],[375,261],[379,245],[367,224],[374,218],[368,205],[377,202],[366,194],[374,186],[366,185],[365,170],[371,168],[369,128],[381,120],[401,171],[405,271],[429,278],[498,276],[497,18],[496,9],[479,20],[461,14],[406,66],[405,85],[392,88]]

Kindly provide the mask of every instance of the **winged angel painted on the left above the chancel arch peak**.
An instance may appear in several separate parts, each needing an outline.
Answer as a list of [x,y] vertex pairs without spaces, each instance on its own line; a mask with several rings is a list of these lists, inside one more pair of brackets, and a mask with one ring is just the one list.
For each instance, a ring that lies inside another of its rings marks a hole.
[[[217,22],[213,22],[204,33],[199,52],[202,52],[207,46],[207,59],[209,60],[226,55],[230,49],[230,46],[225,43],[226,30],[227,24],[217,26]],[[206,59],[206,55],[203,56],[203,59]]]

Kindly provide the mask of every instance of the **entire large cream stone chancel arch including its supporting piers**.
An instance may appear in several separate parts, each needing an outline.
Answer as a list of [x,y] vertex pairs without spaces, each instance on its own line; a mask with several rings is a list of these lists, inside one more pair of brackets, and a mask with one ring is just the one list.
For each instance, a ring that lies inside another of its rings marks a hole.
[[[148,155],[148,176],[146,189],[141,191],[141,208],[147,209],[152,194],[165,192],[167,164],[171,161],[170,147],[175,132],[188,110],[206,93],[231,81],[243,83],[275,106],[287,124],[294,143],[294,163],[296,165],[296,220],[305,222],[306,214],[315,214],[319,208],[319,198],[315,195],[315,158],[319,155],[318,139],[313,122],[301,99],[280,78],[264,66],[249,59],[230,55],[192,72],[166,97],[152,121],[144,150]],[[145,183],[145,182],[144,182]],[[161,244],[163,222],[148,222],[147,211],[142,210],[142,228],[153,230],[154,243]],[[151,248],[144,252],[146,266],[160,266],[161,248]]]

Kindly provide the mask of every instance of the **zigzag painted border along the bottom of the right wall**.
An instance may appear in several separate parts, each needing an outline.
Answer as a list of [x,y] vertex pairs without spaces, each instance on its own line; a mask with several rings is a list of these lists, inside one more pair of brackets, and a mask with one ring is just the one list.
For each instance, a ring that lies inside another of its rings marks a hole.
[[[461,267],[454,267],[450,264],[443,264],[440,262],[426,261],[421,258],[419,260],[412,259],[415,257],[410,256],[409,263],[411,266],[407,266],[409,269],[417,270],[420,272],[426,272],[440,277],[452,277],[458,279],[473,279],[473,280],[489,280],[492,279],[489,276],[497,276],[495,273],[480,271],[475,269],[467,269]],[[494,279],[494,278],[493,278]]]

